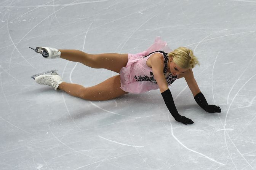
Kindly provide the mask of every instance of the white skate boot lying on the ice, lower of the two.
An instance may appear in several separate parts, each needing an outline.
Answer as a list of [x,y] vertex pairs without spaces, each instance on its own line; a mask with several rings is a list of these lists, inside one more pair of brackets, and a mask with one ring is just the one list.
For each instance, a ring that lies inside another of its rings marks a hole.
[[61,84],[62,78],[56,72],[51,73],[51,75],[39,75],[35,78],[35,82],[38,84],[48,85],[54,88],[55,91],[58,91],[59,84]]

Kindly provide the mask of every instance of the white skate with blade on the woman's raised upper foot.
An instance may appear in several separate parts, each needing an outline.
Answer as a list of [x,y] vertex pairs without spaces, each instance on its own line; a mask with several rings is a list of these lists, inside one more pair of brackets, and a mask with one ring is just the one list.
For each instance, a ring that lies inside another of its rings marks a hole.
[[[29,47],[31,48],[31,47]],[[37,48],[31,48],[35,52],[38,52],[43,55],[46,59],[57,59],[61,57],[61,52],[56,48],[50,48],[50,47],[37,47]]]

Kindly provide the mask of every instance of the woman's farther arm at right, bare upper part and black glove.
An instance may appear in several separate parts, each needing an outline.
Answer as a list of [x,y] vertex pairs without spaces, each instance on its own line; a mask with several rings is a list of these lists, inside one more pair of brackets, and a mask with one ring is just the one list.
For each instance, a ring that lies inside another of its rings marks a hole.
[[184,78],[186,79],[187,85],[189,86],[189,89],[191,90],[195,102],[203,108],[203,110],[209,112],[209,113],[221,113],[221,108],[219,106],[215,105],[208,105],[205,96],[200,91],[197,82],[195,81],[194,74],[192,69],[187,70],[186,75],[184,75]]

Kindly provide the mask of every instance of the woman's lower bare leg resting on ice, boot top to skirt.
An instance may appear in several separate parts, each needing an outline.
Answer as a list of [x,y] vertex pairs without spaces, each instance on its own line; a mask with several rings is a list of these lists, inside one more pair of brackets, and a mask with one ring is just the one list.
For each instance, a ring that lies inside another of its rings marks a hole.
[[116,75],[92,87],[83,87],[79,84],[63,82],[59,85],[58,89],[85,100],[99,101],[114,99],[123,94],[128,94],[128,92],[120,89],[120,86],[120,75]]

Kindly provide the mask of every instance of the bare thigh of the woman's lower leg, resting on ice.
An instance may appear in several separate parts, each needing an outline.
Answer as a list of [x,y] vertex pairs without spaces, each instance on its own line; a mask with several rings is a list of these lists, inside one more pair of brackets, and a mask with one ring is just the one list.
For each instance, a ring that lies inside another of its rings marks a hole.
[[84,93],[87,96],[87,100],[109,100],[128,94],[128,92],[123,91],[120,87],[120,75],[116,75],[96,86],[86,87]]

